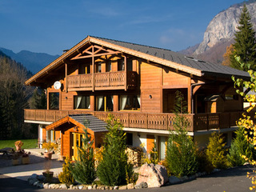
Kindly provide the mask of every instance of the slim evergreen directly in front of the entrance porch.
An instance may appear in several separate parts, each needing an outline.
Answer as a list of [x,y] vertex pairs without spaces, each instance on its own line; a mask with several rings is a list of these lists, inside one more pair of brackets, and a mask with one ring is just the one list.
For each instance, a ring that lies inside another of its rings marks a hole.
[[78,146],[78,159],[74,165],[70,166],[70,170],[77,182],[82,184],[91,184],[96,178],[96,170],[94,164],[94,141],[91,136],[84,130],[84,138],[82,138],[82,146]]

